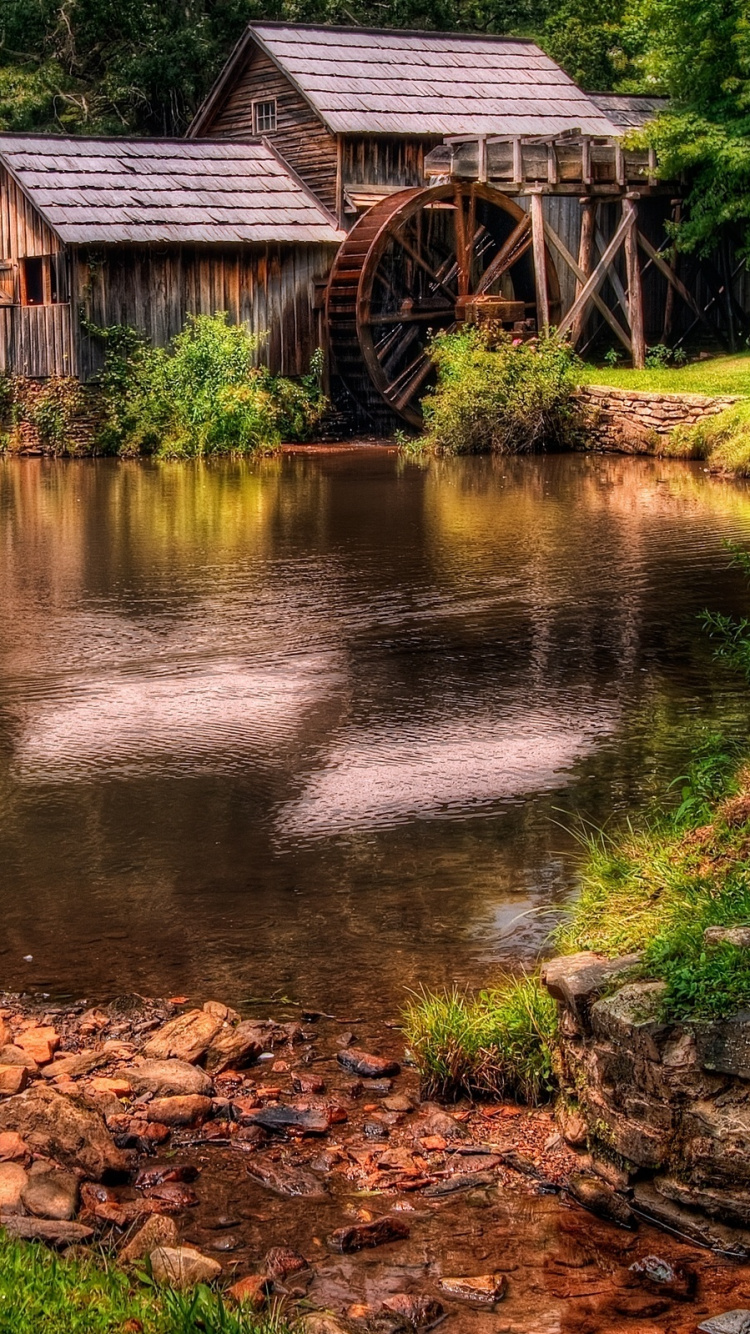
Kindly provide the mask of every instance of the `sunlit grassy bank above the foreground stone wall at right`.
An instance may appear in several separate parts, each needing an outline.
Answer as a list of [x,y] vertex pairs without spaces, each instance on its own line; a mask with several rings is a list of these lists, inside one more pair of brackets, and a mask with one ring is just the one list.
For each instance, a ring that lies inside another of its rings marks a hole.
[[750,770],[707,746],[671,815],[617,839],[587,840],[581,894],[555,938],[563,954],[643,952],[666,982],[665,1014],[721,1018],[750,1005],[750,951],[706,946],[709,926],[750,923]]

